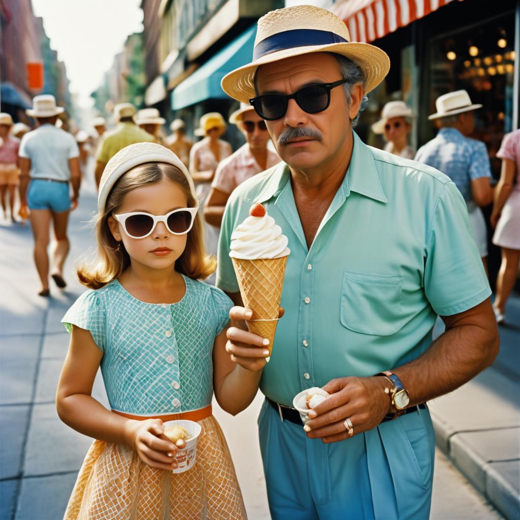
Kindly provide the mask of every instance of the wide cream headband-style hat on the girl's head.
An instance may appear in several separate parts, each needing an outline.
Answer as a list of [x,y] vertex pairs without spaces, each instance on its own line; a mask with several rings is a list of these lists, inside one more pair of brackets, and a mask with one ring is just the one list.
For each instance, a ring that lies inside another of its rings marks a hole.
[[197,199],[190,173],[172,150],[155,142],[138,142],[120,150],[105,166],[99,183],[98,212],[102,213],[105,211],[105,204],[107,203],[110,190],[122,175],[138,164],[149,162],[164,162],[179,168],[188,181],[193,198]]

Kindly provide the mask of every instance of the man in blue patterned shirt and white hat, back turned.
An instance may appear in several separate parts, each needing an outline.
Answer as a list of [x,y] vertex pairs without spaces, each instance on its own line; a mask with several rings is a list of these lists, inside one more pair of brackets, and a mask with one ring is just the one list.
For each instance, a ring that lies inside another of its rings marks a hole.
[[482,105],[472,103],[465,90],[457,90],[439,96],[435,106],[437,112],[428,119],[439,121],[439,133],[419,149],[415,160],[445,173],[459,188],[487,271],[487,228],[480,207],[493,200],[491,167],[486,145],[467,137],[475,129],[474,111]]

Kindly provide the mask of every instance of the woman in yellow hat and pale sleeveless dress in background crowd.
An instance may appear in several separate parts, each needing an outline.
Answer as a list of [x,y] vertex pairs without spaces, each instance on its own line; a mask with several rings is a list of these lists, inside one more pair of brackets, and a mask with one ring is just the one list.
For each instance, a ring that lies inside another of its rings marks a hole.
[[[229,142],[220,139],[226,131],[227,125],[218,112],[208,112],[200,118],[199,128],[194,132],[197,136],[205,136],[196,142],[190,150],[189,170],[197,188],[201,208],[211,189],[211,182],[215,176],[217,166],[223,159],[231,155]],[[211,253],[217,252],[218,228],[206,226],[206,245]]]

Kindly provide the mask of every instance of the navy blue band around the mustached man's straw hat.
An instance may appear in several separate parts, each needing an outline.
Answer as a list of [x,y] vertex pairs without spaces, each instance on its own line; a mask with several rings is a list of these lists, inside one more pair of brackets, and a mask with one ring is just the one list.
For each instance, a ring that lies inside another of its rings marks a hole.
[[313,45],[331,45],[334,43],[349,43],[348,40],[330,32],[318,29],[292,29],[273,34],[262,40],[253,50],[253,60],[262,58],[277,50],[308,47]]

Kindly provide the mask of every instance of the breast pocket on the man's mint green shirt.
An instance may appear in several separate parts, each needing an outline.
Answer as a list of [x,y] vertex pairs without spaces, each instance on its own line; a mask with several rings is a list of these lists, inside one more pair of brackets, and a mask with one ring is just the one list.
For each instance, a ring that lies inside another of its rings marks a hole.
[[402,276],[344,271],[340,319],[361,334],[389,336],[403,325]]

